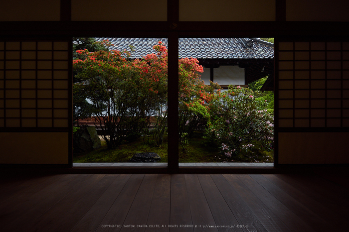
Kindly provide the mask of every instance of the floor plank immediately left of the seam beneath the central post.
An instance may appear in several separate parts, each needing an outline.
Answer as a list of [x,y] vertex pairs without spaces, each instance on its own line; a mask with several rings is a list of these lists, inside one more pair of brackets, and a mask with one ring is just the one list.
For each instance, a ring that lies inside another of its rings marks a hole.
[[[171,175],[158,174],[152,204],[150,207],[146,232],[169,232],[171,206]],[[159,227],[157,227],[159,226]]]

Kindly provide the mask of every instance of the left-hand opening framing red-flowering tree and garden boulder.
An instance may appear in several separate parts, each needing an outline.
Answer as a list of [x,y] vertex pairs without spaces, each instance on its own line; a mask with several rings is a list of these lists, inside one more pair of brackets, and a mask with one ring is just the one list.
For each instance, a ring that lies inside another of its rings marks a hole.
[[73,48],[73,166],[167,166],[167,38]]

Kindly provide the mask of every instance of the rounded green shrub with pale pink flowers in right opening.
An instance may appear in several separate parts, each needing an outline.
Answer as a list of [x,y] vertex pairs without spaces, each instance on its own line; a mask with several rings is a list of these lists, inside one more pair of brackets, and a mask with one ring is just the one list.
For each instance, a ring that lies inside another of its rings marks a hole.
[[259,91],[240,86],[216,94],[204,138],[228,161],[255,162],[251,154],[256,150],[273,150],[273,115],[260,97]]

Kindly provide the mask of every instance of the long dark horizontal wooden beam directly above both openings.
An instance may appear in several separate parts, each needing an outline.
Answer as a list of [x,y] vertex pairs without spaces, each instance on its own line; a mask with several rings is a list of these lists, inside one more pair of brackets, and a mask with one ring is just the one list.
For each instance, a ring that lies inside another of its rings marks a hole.
[[348,37],[349,22],[171,22],[25,21],[0,22],[1,36],[151,37]]

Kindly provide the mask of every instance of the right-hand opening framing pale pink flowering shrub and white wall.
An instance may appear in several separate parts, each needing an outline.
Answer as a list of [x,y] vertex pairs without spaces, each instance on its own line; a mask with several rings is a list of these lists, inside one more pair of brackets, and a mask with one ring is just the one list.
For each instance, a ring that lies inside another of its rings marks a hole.
[[179,38],[180,167],[273,166],[274,44],[263,39]]

